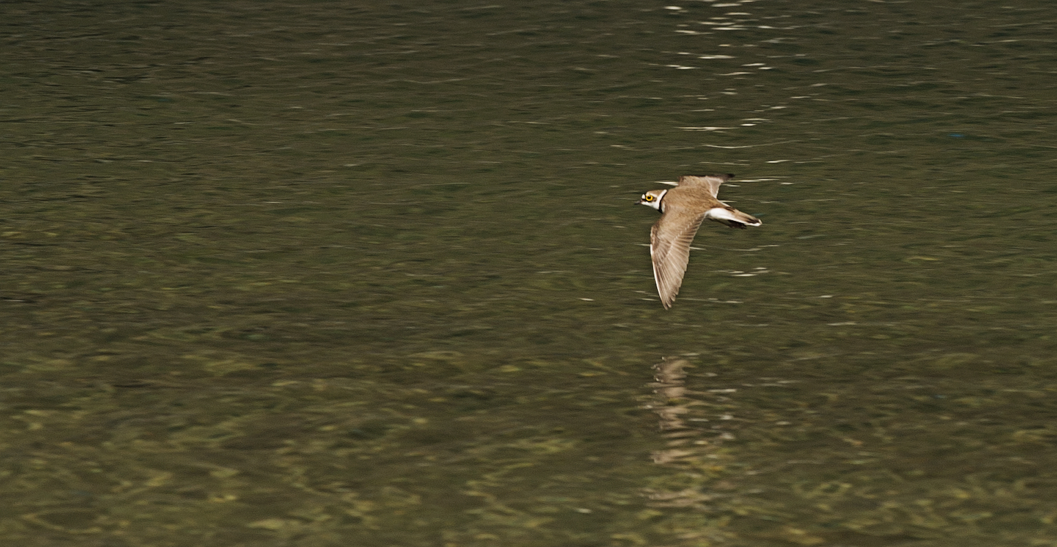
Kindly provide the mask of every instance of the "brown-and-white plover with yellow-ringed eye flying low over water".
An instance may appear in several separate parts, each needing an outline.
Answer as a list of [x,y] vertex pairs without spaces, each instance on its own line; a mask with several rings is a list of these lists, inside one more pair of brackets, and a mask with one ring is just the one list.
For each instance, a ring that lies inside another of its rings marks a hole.
[[733,177],[733,174],[683,175],[674,188],[650,190],[636,202],[661,211],[661,220],[650,230],[650,258],[665,309],[675,302],[690,260],[690,242],[705,219],[742,229],[763,224],[716,197],[720,185]]

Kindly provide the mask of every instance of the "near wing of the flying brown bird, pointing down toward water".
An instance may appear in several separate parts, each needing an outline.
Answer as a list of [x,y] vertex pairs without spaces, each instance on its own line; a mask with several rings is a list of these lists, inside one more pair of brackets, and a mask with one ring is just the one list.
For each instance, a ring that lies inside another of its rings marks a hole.
[[665,309],[671,307],[683,284],[686,264],[690,261],[690,242],[704,220],[704,212],[669,211],[650,230],[653,280]]

